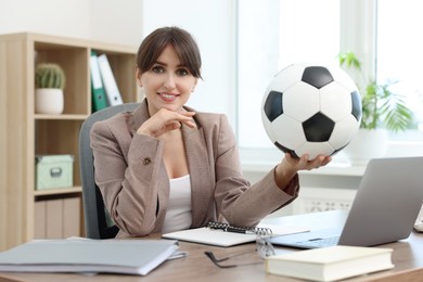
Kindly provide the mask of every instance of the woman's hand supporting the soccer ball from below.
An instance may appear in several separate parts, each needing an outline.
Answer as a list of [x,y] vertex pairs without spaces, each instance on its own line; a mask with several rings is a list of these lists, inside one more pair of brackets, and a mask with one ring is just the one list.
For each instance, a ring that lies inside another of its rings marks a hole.
[[284,158],[278,164],[274,170],[274,179],[277,184],[284,189],[291,181],[291,179],[298,172],[298,170],[311,170],[321,166],[328,165],[331,161],[331,156],[318,155],[315,159],[309,161],[307,154],[299,158],[293,157],[290,153],[285,153]]

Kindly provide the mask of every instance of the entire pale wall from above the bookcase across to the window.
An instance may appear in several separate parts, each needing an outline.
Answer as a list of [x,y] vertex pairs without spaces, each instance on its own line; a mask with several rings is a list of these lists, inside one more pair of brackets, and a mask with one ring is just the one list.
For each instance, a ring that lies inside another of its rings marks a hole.
[[153,29],[185,28],[203,57],[190,105],[235,123],[235,0],[0,0],[0,34],[34,31],[138,47]]

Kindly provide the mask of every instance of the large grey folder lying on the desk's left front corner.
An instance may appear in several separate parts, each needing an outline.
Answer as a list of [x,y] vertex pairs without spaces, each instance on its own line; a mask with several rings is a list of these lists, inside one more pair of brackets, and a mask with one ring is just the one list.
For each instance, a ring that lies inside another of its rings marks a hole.
[[0,253],[0,271],[146,275],[177,249],[169,240],[34,240]]

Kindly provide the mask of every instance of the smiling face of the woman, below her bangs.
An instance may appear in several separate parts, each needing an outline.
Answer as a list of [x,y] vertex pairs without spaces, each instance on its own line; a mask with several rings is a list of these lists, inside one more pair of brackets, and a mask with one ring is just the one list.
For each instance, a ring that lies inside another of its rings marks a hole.
[[137,68],[137,81],[144,89],[150,115],[154,115],[162,107],[180,111],[194,91],[197,78],[180,64],[174,47],[167,46],[149,70],[141,74]]

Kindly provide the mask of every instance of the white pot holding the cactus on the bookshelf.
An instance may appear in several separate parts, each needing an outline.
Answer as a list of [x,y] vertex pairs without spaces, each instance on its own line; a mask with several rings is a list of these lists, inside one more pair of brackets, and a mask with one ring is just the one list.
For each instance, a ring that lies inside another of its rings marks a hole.
[[57,88],[40,88],[35,91],[35,112],[37,114],[59,115],[63,113],[63,90]]

